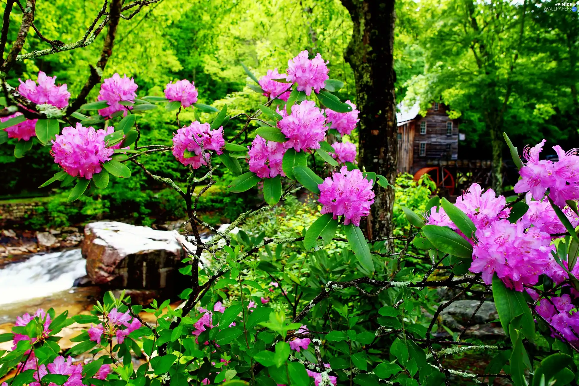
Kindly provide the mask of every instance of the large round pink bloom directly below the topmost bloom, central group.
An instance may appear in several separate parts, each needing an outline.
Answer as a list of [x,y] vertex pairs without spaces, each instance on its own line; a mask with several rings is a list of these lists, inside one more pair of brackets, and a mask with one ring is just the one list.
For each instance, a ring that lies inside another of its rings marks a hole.
[[281,115],[283,119],[277,122],[277,127],[288,138],[284,143],[286,149],[294,148],[299,152],[320,148],[319,142],[324,140],[328,127],[316,102],[303,101],[292,107],[291,115],[287,115],[285,110],[281,110]]

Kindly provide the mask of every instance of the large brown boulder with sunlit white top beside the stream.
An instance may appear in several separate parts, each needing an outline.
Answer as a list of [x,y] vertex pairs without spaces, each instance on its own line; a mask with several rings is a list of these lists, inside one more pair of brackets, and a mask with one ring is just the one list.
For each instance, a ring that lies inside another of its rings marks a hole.
[[100,286],[173,296],[186,285],[178,271],[185,253],[170,231],[115,221],[89,223],[82,255],[90,280]]

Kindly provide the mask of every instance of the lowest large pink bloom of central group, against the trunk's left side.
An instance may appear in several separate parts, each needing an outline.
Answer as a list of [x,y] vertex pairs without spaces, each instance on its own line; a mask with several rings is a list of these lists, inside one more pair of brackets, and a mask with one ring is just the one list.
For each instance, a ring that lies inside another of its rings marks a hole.
[[324,205],[321,213],[334,214],[334,219],[344,215],[345,225],[353,223],[360,226],[361,218],[370,213],[370,205],[374,202],[372,181],[365,179],[358,169],[348,171],[343,166],[339,172],[326,177],[318,188],[318,201]]

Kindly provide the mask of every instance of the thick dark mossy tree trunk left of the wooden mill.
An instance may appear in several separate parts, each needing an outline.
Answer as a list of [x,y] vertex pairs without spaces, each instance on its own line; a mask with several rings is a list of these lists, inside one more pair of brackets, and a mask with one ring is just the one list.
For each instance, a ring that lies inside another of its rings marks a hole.
[[[360,110],[360,166],[396,178],[397,126],[394,98],[394,0],[342,0],[354,23],[344,54],[354,71]],[[394,190],[374,186],[376,197],[367,219],[369,238],[391,236]]]

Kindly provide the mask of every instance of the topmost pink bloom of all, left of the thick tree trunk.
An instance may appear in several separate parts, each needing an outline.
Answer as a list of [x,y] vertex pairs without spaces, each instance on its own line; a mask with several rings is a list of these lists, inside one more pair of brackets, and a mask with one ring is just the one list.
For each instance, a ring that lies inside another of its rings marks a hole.
[[287,78],[288,82],[298,83],[298,91],[306,91],[306,95],[320,92],[328,80],[329,69],[321,55],[318,53],[312,60],[307,58],[307,50],[302,51],[295,58],[288,61]]

